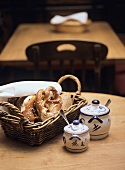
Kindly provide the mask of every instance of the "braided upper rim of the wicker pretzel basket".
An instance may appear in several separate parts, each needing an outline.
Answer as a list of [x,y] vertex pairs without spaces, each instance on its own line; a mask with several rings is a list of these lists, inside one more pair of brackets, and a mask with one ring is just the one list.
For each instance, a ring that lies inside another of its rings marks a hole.
[[[69,92],[68,92],[69,93]],[[79,96],[81,97],[81,96]],[[71,112],[75,112],[77,109],[79,109],[80,107],[84,106],[87,104],[87,100],[82,97],[79,98],[77,95],[77,99],[81,99],[78,103],[73,104],[72,106],[70,106],[67,110],[66,110],[66,116],[71,113]],[[5,105],[4,105],[5,104]],[[10,104],[9,102],[0,102],[0,106],[13,106],[13,104]],[[14,106],[15,107],[15,106]],[[61,117],[61,115],[58,113],[56,116],[50,117],[48,119],[46,119],[43,122],[36,122],[36,123],[32,123],[30,122],[27,118],[20,117],[20,115],[14,115],[13,112],[9,113],[7,111],[4,110],[0,110],[0,119],[1,120],[6,120],[6,121],[12,121],[13,123],[19,123],[21,124],[24,128],[26,129],[37,129],[37,128],[43,128],[44,126],[50,125],[53,122],[55,122],[57,119],[59,119]]]

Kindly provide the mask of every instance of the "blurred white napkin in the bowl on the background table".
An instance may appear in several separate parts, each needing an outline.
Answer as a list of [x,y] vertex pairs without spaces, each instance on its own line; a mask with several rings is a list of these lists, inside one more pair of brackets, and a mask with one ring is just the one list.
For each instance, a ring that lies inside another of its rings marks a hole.
[[67,16],[61,16],[61,15],[55,15],[51,20],[51,24],[61,24],[64,23],[68,20],[77,20],[81,22],[82,24],[85,24],[88,20],[88,13],[87,12],[78,12],[72,15],[67,15]]

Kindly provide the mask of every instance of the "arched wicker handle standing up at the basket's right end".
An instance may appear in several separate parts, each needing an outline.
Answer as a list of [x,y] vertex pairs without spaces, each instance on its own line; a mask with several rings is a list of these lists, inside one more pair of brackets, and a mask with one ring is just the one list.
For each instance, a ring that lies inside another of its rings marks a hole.
[[72,79],[74,80],[76,83],[77,83],[77,91],[76,91],[76,94],[81,94],[81,83],[79,81],[79,79],[71,74],[67,74],[65,76],[62,76],[59,80],[58,80],[58,83],[61,84],[65,79]]

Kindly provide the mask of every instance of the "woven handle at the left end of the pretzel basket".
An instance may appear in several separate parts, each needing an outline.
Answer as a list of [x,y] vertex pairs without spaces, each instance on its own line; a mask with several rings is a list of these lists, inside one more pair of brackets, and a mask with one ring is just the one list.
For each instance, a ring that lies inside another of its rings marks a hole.
[[9,102],[0,102],[0,106],[5,106],[5,107],[9,108],[16,116],[19,116],[22,118],[24,117],[23,114],[21,113],[21,111],[16,106],[14,106],[13,104],[11,104]]

